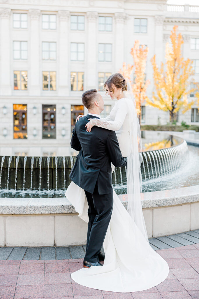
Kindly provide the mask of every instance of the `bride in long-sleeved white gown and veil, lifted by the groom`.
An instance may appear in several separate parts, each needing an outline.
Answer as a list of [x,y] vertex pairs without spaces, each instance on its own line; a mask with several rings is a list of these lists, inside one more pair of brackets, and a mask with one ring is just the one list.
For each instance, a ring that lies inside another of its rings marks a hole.
[[[82,268],[72,279],[89,288],[112,292],[143,291],[161,283],[169,274],[166,261],[149,245],[141,205],[142,146],[135,100],[131,86],[120,73],[104,84],[111,99],[116,99],[110,115],[93,118],[86,125],[116,131],[123,157],[127,158],[127,210],[113,190],[113,210],[104,239],[103,266]],[[78,119],[77,119],[78,120]],[[112,165],[112,172],[114,166]],[[65,196],[88,223],[88,203],[84,190],[71,182]]]

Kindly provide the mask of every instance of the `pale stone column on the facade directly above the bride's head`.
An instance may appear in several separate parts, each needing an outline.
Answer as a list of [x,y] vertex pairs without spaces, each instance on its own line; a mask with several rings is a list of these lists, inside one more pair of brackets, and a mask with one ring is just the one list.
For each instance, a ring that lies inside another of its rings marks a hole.
[[114,61],[114,71],[118,72],[122,68],[124,62],[124,46],[125,46],[125,21],[127,15],[125,13],[115,13],[115,45],[112,47],[115,57]]

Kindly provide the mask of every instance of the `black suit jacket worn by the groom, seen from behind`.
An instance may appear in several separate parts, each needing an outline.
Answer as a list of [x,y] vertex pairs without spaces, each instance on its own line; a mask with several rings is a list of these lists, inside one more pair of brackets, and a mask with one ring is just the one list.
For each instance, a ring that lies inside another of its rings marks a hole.
[[115,167],[127,164],[127,158],[122,157],[115,131],[94,126],[87,132],[85,125],[89,118],[87,114],[76,122],[72,131],[70,146],[79,151],[70,173],[70,179],[82,189],[93,193],[98,184],[99,194],[112,192],[111,162]]

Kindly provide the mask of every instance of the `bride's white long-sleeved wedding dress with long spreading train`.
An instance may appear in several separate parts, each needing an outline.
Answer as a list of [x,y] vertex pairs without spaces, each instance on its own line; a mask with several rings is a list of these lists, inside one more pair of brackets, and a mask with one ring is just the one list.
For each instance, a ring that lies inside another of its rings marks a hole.
[[[128,117],[127,99],[124,98],[116,101],[107,118],[95,123],[116,131],[124,157],[129,143]],[[71,182],[65,196],[78,216],[88,223],[84,190]],[[104,265],[75,271],[71,274],[72,279],[82,286],[112,292],[136,292],[157,286],[168,276],[168,264],[151,248],[135,222],[129,221],[128,212],[114,190],[113,199],[112,216],[103,243]]]

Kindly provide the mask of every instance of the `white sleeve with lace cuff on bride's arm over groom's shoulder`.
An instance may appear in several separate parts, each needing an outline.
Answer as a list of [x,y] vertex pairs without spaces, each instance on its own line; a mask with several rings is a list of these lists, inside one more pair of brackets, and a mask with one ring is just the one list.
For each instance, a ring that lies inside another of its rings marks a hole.
[[109,120],[110,117],[108,116],[107,118],[92,118],[91,124],[93,126],[105,128],[108,130],[112,131],[117,131],[121,128],[121,126],[124,123],[124,119],[127,115],[127,103],[125,100],[121,100],[120,102],[117,103],[117,106],[113,107],[113,109],[116,109],[116,114],[115,114],[115,120]]

